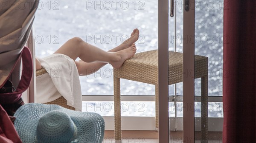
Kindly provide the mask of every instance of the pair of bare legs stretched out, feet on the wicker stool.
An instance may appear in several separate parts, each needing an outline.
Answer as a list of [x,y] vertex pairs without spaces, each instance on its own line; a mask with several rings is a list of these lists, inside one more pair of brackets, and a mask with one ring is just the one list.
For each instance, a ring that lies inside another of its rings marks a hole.
[[[106,52],[84,42],[81,38],[75,37],[68,40],[55,53],[65,54],[74,61],[79,57],[81,60],[75,61],[75,63],[79,75],[84,76],[96,72],[107,63],[111,64],[114,68],[121,67],[126,59],[131,58],[136,53],[137,49],[134,42],[136,42],[138,38],[139,30],[134,29],[129,39],[116,48]],[[88,71],[90,71],[90,73],[88,73]]]

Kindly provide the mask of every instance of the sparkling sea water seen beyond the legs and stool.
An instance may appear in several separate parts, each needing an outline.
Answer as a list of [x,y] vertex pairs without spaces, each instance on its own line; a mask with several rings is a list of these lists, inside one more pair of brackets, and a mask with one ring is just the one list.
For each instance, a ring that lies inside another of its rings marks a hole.
[[[190,42],[190,37],[183,36],[183,1],[177,0],[176,5],[177,35],[173,30],[174,18],[169,17],[169,50],[174,50],[176,39],[177,52],[182,52],[183,42]],[[157,0],[41,0],[33,25],[36,56],[54,53],[75,36],[103,50],[110,50],[125,41],[134,28],[140,30],[137,52],[157,49],[157,9]],[[209,58],[209,96],[222,95],[222,39],[223,0],[196,1],[195,54]],[[113,95],[113,68],[110,64],[92,75],[81,76],[80,81],[83,95]],[[154,85],[124,79],[121,79],[121,89],[122,95],[155,93]],[[182,83],[177,84],[177,95],[183,95],[182,90]],[[169,95],[174,95],[173,85],[169,86]],[[195,79],[195,95],[201,95],[201,79]],[[213,106],[218,104],[213,103]],[[153,108],[153,104],[148,104],[148,112],[143,115],[153,116]],[[212,114],[222,116],[222,112]]]

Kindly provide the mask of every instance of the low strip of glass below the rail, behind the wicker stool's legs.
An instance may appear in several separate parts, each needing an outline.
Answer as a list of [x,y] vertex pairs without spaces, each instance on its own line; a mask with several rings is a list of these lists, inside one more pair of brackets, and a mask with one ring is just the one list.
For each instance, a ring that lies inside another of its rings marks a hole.
[[[183,117],[183,103],[177,102],[177,117]],[[114,116],[113,101],[83,101],[83,112],[95,112],[102,116]],[[209,102],[208,117],[223,118],[222,102]],[[122,116],[155,117],[154,101],[122,101]],[[175,117],[175,106],[169,103],[169,117]],[[201,102],[195,102],[195,117],[201,117]]]

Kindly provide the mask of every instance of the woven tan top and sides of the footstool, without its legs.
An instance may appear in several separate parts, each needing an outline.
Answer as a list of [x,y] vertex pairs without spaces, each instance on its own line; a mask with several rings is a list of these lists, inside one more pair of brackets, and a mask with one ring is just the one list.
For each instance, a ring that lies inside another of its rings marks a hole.
[[[158,84],[158,52],[150,50],[136,53],[124,62],[122,67],[114,69],[116,77],[148,84]],[[195,55],[195,78],[208,73],[208,58]],[[191,71],[185,71],[189,75]],[[183,80],[183,53],[169,51],[169,85]]]

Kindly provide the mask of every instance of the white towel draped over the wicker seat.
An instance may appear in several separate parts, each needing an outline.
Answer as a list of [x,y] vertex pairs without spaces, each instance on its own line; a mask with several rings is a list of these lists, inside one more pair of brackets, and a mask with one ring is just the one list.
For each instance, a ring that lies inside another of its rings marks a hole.
[[82,93],[76,63],[64,54],[38,58],[49,74],[37,76],[35,102],[46,103],[63,96],[67,105],[82,111]]

